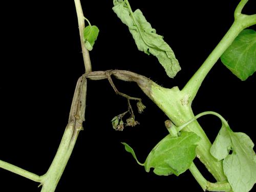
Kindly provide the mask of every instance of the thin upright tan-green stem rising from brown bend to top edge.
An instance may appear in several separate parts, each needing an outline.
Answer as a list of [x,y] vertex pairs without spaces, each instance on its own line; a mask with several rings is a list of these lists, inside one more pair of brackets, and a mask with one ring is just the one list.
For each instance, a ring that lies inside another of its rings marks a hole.
[[78,28],[79,28],[79,34],[80,34],[81,47],[82,47],[83,62],[84,62],[84,67],[86,69],[86,73],[88,73],[92,71],[92,65],[91,65],[89,51],[86,49],[86,46],[84,45],[84,42],[83,42],[83,29],[85,28],[85,24],[84,24],[84,16],[83,16],[80,0],[75,0],[75,6],[76,6]]

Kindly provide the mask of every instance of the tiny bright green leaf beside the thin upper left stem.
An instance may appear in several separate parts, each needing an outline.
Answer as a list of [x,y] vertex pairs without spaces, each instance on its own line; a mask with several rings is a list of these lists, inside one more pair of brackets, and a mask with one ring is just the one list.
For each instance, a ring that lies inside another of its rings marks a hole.
[[99,29],[97,26],[89,25],[83,29],[83,41],[86,49],[92,51],[95,40],[97,39],[99,34]]

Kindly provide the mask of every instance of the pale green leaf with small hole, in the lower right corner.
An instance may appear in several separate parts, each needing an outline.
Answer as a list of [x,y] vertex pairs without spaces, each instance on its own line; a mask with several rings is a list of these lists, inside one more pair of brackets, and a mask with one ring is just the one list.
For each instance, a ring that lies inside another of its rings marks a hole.
[[[247,192],[256,182],[256,155],[253,142],[244,133],[235,133],[223,123],[210,153],[223,160],[224,173],[234,192]],[[232,150],[232,154],[229,151]]]

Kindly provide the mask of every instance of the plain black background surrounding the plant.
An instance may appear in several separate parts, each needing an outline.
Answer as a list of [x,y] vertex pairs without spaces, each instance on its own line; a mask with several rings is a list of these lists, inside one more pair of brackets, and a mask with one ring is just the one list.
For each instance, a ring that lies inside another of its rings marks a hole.
[[[174,79],[165,75],[154,56],[137,50],[129,30],[112,11],[112,1],[81,2],[84,16],[100,29],[90,52],[94,71],[130,70],[163,87],[181,89],[231,26],[239,1],[130,0],[133,10],[141,9],[174,50],[182,68]],[[76,81],[84,72],[75,6],[73,1],[0,4],[1,12],[6,11],[1,27],[0,159],[42,175],[54,158]],[[244,13],[255,13],[252,0]],[[107,80],[90,80],[84,131],[56,192],[153,188],[202,191],[189,172],[179,177],[146,173],[124,151],[120,142],[129,143],[143,162],[168,134],[164,127],[167,117],[135,83],[114,82],[119,91],[143,99],[147,108],[136,115],[140,125],[123,132],[113,130],[110,121],[126,111],[126,99],[116,95]],[[218,61],[193,102],[194,113],[216,111],[228,120],[233,131],[244,132],[255,142],[254,91],[255,75],[241,81]],[[221,125],[218,118],[202,117],[199,122],[214,141]],[[204,176],[214,181],[196,163]],[[1,191],[40,191],[38,183],[3,169],[0,183]]]

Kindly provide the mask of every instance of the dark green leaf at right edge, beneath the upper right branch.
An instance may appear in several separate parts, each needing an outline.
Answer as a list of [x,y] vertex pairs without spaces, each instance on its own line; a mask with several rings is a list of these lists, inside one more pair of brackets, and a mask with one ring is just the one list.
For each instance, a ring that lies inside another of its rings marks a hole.
[[246,80],[256,71],[256,32],[243,30],[223,53],[221,61],[234,75]]

